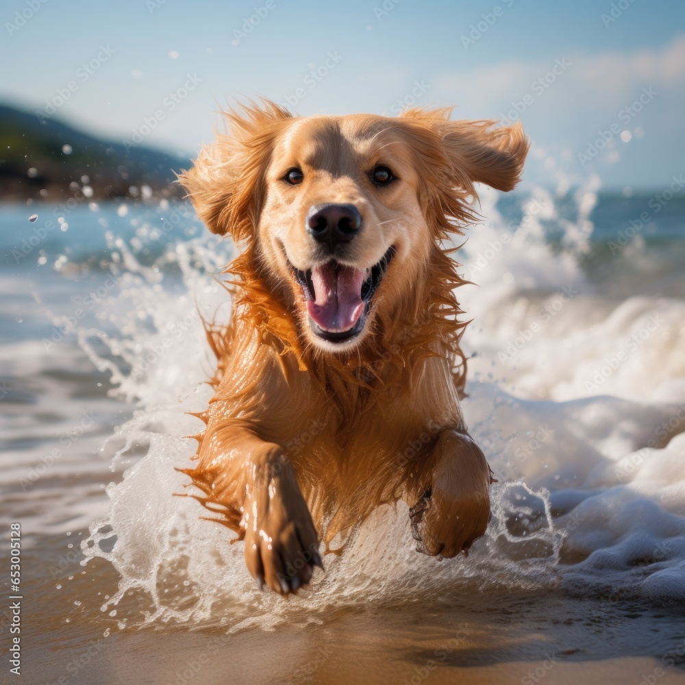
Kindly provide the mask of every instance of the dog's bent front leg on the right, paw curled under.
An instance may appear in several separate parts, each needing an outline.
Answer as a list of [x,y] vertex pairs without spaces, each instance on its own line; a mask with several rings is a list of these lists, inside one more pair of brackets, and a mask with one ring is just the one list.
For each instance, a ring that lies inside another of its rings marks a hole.
[[429,482],[409,512],[412,535],[417,551],[453,557],[488,525],[490,467],[473,438],[456,430],[440,434],[433,456]]

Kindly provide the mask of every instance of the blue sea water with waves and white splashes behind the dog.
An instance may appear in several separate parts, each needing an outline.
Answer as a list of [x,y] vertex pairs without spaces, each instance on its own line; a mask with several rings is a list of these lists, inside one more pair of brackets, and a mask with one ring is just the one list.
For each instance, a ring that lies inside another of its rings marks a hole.
[[598,185],[484,190],[453,240],[473,283],[463,409],[498,479],[469,558],[417,554],[400,503],[288,602],[175,470],[212,395],[202,320],[230,316],[234,247],[185,203],[5,208],[3,525],[21,519],[36,559],[73,534],[55,594],[107,564],[98,610],[119,630],[272,630],[447,591],[685,601],[685,195]]

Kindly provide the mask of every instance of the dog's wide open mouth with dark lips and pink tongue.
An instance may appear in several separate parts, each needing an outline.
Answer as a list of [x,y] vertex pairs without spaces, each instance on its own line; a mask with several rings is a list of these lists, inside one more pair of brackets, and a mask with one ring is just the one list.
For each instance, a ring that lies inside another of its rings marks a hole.
[[391,246],[370,269],[355,269],[336,260],[307,271],[293,268],[316,336],[343,343],[362,332],[371,299],[394,255],[395,246]]

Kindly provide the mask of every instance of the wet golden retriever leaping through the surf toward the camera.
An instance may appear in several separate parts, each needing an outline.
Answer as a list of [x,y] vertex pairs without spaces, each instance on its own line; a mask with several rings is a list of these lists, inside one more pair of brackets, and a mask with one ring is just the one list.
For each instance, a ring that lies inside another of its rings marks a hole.
[[229,134],[179,175],[238,246],[231,321],[208,325],[216,394],[182,469],[196,499],[281,595],[323,568],[321,541],[340,553],[400,499],[417,551],[467,553],[493,478],[460,410],[464,280],[443,245],[477,220],[476,182],[519,182],[521,125],[448,109],[298,117],[268,100],[224,114]]

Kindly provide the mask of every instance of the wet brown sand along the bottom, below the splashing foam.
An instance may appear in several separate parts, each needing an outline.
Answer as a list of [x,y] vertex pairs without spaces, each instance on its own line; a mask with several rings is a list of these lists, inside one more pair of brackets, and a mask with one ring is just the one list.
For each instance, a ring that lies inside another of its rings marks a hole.
[[271,631],[163,624],[120,630],[124,616],[140,619],[145,599],[131,593],[116,616],[101,612],[116,571],[104,560],[84,569],[64,547],[64,536],[41,538],[24,556],[23,682],[685,682],[685,615],[677,608],[562,590],[456,588],[324,611],[316,625],[293,621]]

